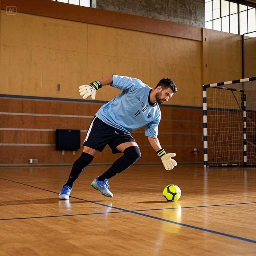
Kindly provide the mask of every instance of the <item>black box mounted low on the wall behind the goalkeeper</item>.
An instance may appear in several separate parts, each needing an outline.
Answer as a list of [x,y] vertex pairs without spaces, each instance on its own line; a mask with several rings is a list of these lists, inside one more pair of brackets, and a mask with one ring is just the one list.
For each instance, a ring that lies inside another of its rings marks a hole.
[[80,146],[80,130],[56,129],[56,150],[77,150]]

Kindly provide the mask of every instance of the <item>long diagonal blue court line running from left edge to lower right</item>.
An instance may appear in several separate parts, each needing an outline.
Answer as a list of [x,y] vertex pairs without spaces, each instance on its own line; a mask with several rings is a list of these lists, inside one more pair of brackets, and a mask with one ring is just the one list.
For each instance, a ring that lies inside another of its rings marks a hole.
[[[17,182],[17,181],[13,181],[13,180],[8,180],[8,179],[4,179],[4,178],[1,178],[1,177],[0,177],[0,179],[11,181],[11,182],[18,183],[18,184],[22,184],[22,185],[29,186],[29,187],[32,187],[32,188],[36,188],[36,189],[41,189],[41,190],[44,190],[44,191],[52,192],[52,193],[55,193],[55,194],[59,194],[58,192],[54,192],[54,191],[51,191],[51,190],[48,190],[48,189],[42,189],[42,188],[39,188],[39,187],[36,187],[36,186],[31,186],[31,185],[28,185],[28,184],[24,184],[24,183],[21,183],[21,182]],[[230,234],[214,231],[214,230],[211,230],[211,229],[204,229],[204,228],[200,228],[200,227],[197,227],[197,226],[192,226],[192,225],[183,224],[183,223],[180,223],[180,222],[175,222],[175,221],[172,221],[172,220],[166,220],[166,219],[155,217],[155,216],[151,216],[151,215],[148,215],[148,214],[143,214],[143,213],[136,212],[136,211],[130,211],[130,210],[126,210],[126,209],[115,207],[115,206],[101,204],[101,203],[85,200],[85,199],[82,199],[82,198],[77,198],[77,197],[73,197],[73,196],[70,196],[70,198],[75,198],[75,199],[78,199],[78,200],[82,200],[82,201],[86,201],[86,202],[91,202],[93,204],[98,204],[98,205],[105,206],[105,207],[108,207],[108,208],[113,208],[113,209],[116,209],[116,210],[120,210],[122,212],[133,213],[133,214],[137,214],[137,215],[140,215],[140,216],[143,216],[143,217],[148,217],[148,218],[155,219],[155,220],[161,220],[161,221],[168,222],[168,223],[173,223],[173,224],[176,224],[176,225],[179,225],[179,226],[184,226],[184,227],[188,227],[188,228],[192,228],[192,229],[197,229],[197,230],[213,233],[213,234],[216,234],[216,235],[221,235],[221,236],[226,236],[226,237],[230,237],[230,238],[235,238],[235,239],[239,239],[239,240],[242,240],[242,241],[245,241],[245,242],[251,242],[251,243],[256,244],[255,240],[244,238],[244,237],[241,237],[241,236],[234,236],[234,235],[230,235]]]

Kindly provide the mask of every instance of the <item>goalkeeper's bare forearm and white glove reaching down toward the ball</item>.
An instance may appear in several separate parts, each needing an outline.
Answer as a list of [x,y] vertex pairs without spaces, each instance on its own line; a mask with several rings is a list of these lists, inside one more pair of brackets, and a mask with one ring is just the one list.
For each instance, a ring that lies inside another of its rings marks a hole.
[[157,137],[156,138],[148,137],[148,141],[149,141],[151,147],[153,149],[155,149],[157,155],[162,160],[164,168],[166,170],[172,170],[174,168],[174,166],[177,165],[177,162],[172,159],[172,157],[175,157],[176,154],[175,153],[166,154],[164,149],[161,148],[160,142]]

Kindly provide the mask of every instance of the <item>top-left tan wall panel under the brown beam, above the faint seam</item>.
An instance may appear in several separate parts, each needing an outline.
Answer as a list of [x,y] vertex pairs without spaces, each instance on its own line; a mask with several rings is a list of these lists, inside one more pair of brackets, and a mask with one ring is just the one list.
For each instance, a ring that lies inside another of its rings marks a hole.
[[[6,15],[5,11],[2,13],[1,40],[3,42],[64,51],[72,50],[80,53],[87,52],[87,23],[20,12],[11,16]],[[28,33],[24,33],[24,31]]]

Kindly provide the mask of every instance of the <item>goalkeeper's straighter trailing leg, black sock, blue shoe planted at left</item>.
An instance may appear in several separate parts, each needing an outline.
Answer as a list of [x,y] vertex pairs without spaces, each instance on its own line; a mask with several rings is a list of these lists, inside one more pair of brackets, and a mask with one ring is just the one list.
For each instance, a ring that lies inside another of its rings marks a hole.
[[97,150],[84,147],[82,154],[73,164],[69,178],[64,184],[59,194],[60,199],[69,199],[70,192],[73,188],[74,181],[83,173],[84,168],[89,165],[94,158]]

